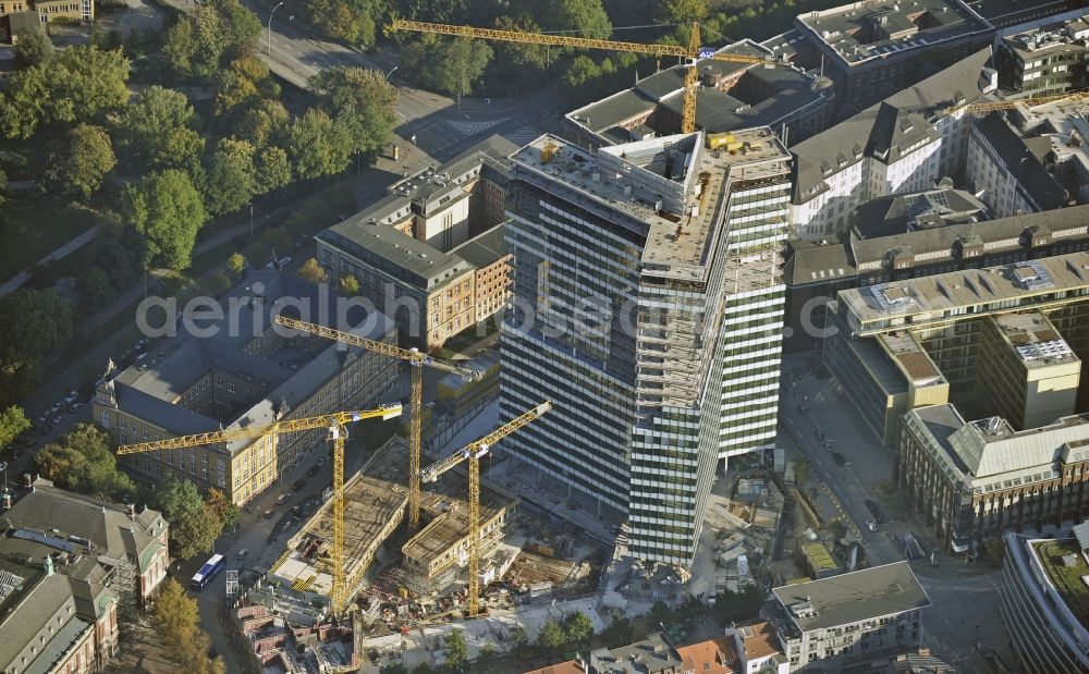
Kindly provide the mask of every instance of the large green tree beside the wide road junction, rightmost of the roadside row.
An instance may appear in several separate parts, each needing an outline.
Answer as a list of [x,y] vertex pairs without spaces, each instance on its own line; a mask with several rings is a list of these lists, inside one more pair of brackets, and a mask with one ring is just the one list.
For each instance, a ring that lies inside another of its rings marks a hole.
[[309,86],[321,97],[321,108],[344,125],[352,151],[376,150],[390,139],[397,90],[379,71],[335,65],[310,77]]

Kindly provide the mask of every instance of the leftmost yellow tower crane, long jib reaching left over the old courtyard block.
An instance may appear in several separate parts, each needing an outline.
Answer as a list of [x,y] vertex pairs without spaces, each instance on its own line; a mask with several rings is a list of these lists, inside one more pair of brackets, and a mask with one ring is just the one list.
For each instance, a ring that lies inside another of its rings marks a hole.
[[208,433],[156,440],[155,442],[123,444],[118,448],[118,454],[139,454],[156,450],[180,450],[203,444],[234,442],[236,440],[256,440],[269,434],[328,428],[329,437],[333,441],[333,550],[331,560],[333,566],[333,588],[330,593],[329,604],[333,615],[340,615],[347,603],[347,588],[344,587],[344,439],[347,437],[346,426],[353,421],[362,421],[363,419],[381,418],[384,421],[397,416],[401,416],[400,404],[386,405],[378,409],[334,412],[316,417],[286,419],[261,426],[228,428]]

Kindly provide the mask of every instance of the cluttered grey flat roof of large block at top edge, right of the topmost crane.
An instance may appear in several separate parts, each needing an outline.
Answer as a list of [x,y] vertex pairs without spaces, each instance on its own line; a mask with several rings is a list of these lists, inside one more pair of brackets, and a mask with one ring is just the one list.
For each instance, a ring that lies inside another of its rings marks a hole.
[[960,0],[866,0],[797,20],[848,66],[993,29]]

